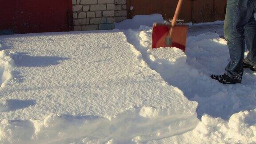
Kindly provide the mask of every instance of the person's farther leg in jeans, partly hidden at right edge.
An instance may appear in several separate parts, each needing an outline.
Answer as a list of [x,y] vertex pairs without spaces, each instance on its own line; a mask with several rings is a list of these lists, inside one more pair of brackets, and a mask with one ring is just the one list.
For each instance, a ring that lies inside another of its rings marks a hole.
[[[252,4],[254,5],[254,3]],[[256,7],[256,5],[254,5],[254,7]],[[248,24],[245,25],[244,34],[245,34],[246,46],[249,51],[244,62],[245,64],[250,64],[256,67],[256,20],[254,18],[254,15],[252,15]]]

